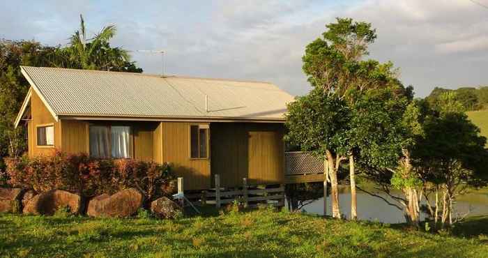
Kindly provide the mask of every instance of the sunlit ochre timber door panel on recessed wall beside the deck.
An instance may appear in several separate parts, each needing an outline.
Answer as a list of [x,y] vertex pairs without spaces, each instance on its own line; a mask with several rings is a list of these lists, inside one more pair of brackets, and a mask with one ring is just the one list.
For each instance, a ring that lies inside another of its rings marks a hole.
[[280,132],[249,132],[248,181],[277,184],[284,180],[284,143]]

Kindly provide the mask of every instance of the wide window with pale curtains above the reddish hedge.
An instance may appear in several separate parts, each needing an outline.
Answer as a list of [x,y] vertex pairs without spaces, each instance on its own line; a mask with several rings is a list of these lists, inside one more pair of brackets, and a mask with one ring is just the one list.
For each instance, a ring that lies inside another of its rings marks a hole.
[[130,126],[90,126],[90,155],[130,158]]

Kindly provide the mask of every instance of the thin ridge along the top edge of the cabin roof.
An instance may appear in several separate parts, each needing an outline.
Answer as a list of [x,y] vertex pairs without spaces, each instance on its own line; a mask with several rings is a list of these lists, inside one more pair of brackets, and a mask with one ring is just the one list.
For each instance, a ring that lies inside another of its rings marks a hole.
[[251,82],[251,83],[262,83],[262,84],[273,84],[272,82],[264,82],[264,81],[254,81],[254,80],[247,80],[247,79],[225,79],[225,78],[210,78],[210,77],[197,77],[197,76],[188,76],[188,75],[156,75],[152,73],[133,73],[133,72],[121,72],[121,71],[107,71],[107,70],[86,70],[86,69],[76,69],[76,68],[60,68],[60,67],[47,67],[47,66],[20,66],[24,68],[43,68],[43,69],[52,69],[52,70],[74,70],[77,72],[84,72],[84,73],[120,73],[123,75],[138,75],[138,76],[147,76],[147,77],[159,77],[159,78],[177,78],[177,79],[206,79],[206,80],[215,80],[215,81],[227,81],[227,82]]

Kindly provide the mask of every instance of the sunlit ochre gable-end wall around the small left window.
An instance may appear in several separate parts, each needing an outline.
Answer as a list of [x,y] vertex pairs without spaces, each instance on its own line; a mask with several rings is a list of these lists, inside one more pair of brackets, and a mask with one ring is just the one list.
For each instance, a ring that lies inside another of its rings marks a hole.
[[[47,110],[43,101],[40,100],[36,91],[32,91],[31,95],[31,121],[28,123],[28,137],[29,137],[29,156],[47,155],[52,153],[54,149],[61,148],[61,121],[56,122],[52,114]],[[36,128],[40,125],[52,124],[54,126],[54,146],[37,146],[36,142]]]

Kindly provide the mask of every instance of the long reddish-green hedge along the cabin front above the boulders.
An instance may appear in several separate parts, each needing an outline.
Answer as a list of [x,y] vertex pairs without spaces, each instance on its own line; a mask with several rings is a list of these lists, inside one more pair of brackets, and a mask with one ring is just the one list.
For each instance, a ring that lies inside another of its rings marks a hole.
[[85,153],[6,159],[8,183],[37,192],[60,189],[85,197],[114,194],[127,188],[141,190],[151,201],[174,192],[168,165],[140,160],[100,160]]

